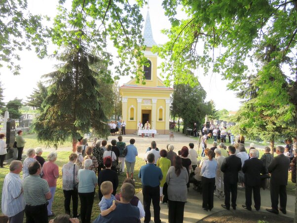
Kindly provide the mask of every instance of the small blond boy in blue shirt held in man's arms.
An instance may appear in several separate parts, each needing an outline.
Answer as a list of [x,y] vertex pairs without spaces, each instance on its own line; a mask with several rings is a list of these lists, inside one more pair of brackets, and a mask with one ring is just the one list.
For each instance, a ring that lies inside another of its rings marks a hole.
[[101,215],[107,216],[116,208],[115,203],[118,203],[118,201],[116,201],[113,194],[111,194],[113,191],[113,186],[110,181],[103,182],[100,186],[100,190],[103,194],[103,197],[99,202]]

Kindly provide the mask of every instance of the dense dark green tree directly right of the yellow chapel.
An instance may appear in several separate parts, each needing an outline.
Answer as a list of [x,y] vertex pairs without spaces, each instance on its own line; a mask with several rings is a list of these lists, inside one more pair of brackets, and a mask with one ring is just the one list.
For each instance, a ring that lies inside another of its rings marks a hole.
[[184,119],[184,128],[190,127],[198,121],[197,126],[203,123],[209,112],[205,103],[206,92],[201,85],[191,87],[189,84],[174,85],[175,91],[171,98],[171,115]]

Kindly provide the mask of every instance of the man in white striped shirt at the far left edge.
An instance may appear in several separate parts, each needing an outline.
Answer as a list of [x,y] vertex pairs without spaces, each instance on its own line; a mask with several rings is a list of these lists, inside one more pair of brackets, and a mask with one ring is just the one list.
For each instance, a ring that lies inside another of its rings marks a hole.
[[2,213],[9,217],[9,223],[22,223],[24,219],[25,200],[20,173],[23,164],[14,160],[10,163],[10,172],[4,178],[2,188]]

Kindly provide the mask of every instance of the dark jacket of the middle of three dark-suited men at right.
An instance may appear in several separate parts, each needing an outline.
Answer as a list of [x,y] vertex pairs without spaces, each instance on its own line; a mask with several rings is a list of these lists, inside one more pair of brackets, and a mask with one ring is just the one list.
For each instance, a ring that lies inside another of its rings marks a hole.
[[260,159],[253,157],[244,161],[242,172],[244,173],[244,183],[247,186],[260,186],[260,174],[265,174],[266,169]]

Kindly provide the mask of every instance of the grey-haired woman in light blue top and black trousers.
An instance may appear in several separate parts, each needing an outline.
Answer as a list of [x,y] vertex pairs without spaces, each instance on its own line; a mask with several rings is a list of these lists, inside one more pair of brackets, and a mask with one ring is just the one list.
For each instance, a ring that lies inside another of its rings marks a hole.
[[92,164],[91,159],[86,159],[83,164],[83,169],[78,170],[77,174],[77,180],[79,182],[80,220],[82,223],[91,222],[95,187],[98,185],[96,174],[91,170]]

